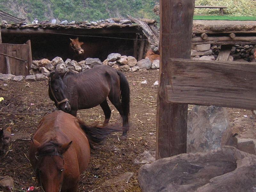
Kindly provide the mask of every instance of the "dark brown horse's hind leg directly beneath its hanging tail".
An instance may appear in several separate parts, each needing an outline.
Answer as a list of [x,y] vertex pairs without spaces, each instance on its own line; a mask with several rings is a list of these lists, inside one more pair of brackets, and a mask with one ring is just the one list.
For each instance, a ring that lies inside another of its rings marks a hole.
[[117,92],[116,94],[111,94],[111,92],[110,92],[108,98],[109,98],[110,102],[118,110],[118,112],[120,113],[120,115],[122,117],[124,131],[123,131],[121,139],[125,140],[127,138],[127,131],[128,131],[128,116],[124,115],[122,104],[120,102],[119,92]]

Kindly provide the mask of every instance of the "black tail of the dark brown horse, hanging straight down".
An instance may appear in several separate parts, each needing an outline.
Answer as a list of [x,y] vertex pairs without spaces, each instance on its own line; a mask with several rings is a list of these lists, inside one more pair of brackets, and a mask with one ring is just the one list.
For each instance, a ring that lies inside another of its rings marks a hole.
[[120,78],[120,99],[123,108],[124,115],[127,119],[130,116],[130,88],[129,83],[123,73],[117,71]]

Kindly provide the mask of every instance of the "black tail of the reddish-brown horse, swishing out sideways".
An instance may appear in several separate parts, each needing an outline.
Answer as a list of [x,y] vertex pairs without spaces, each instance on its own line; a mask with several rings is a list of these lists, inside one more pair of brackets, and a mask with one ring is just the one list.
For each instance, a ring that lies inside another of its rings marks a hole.
[[102,145],[105,143],[107,136],[112,132],[121,132],[122,128],[116,126],[104,126],[89,127],[84,124],[82,120],[78,120],[81,129],[83,129],[86,137],[90,143],[90,147],[93,148],[94,145]]

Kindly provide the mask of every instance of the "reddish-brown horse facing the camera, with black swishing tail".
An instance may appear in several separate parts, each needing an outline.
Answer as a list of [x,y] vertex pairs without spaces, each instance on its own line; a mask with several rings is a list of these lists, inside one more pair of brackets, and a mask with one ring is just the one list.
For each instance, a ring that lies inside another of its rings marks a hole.
[[44,192],[76,192],[90,159],[90,145],[120,131],[88,127],[76,117],[55,111],[40,121],[30,143],[29,158]]

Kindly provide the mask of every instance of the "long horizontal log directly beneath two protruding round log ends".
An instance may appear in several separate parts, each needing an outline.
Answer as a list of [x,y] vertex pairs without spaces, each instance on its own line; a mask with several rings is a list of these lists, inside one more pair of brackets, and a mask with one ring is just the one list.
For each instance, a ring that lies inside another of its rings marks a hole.
[[201,37],[192,37],[192,43],[194,44],[256,44],[256,36],[244,36],[244,37],[208,37],[203,40]]

